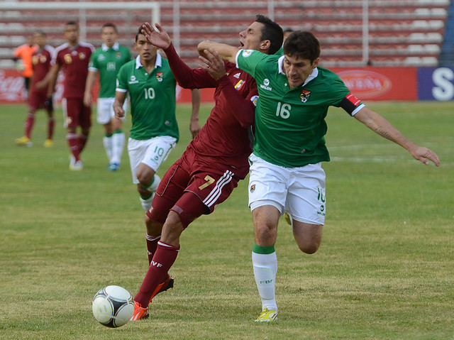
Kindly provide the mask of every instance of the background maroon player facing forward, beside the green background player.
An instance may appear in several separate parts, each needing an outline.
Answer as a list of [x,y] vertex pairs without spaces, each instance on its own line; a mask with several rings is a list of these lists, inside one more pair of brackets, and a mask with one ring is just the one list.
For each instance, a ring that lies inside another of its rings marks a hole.
[[[60,69],[65,72],[65,82],[62,106],[65,113],[66,139],[71,150],[70,170],[82,170],[84,164],[80,160],[80,153],[84,149],[92,126],[92,109],[84,104],[85,81],[88,75],[90,56],[94,46],[79,42],[79,25],[69,21],[65,25],[67,43],[56,48],[52,67],[43,80],[50,82],[48,97],[52,96]],[[77,126],[81,132],[77,135]]]

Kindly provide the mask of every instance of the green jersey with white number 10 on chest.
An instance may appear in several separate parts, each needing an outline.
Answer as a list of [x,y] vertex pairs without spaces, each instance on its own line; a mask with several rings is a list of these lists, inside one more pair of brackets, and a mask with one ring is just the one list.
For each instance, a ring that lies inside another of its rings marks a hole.
[[176,87],[169,62],[159,54],[155,68],[149,74],[140,64],[140,56],[121,67],[116,91],[129,92],[131,98],[131,138],[145,141],[171,136],[179,139],[175,116]]

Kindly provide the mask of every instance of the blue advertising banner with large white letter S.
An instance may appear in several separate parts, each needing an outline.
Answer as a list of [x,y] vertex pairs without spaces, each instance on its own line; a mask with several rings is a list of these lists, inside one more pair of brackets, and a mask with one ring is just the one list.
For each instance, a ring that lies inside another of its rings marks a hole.
[[454,100],[454,67],[418,69],[419,100]]

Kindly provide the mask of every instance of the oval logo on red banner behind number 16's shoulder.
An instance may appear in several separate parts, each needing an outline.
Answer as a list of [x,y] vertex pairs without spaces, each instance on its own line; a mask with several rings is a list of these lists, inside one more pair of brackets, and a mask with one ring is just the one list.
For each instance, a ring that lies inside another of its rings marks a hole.
[[361,99],[380,97],[392,88],[391,80],[377,72],[348,70],[338,72],[345,85]]

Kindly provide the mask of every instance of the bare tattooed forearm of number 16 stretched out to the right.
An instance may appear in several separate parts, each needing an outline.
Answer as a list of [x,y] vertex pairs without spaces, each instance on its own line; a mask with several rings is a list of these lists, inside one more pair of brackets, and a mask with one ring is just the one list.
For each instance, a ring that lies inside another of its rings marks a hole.
[[384,119],[384,117],[380,114],[377,114],[377,112],[372,111],[367,107],[363,107],[357,114],[355,114],[354,117],[375,133],[408,150],[414,159],[419,160],[426,165],[430,164],[428,160],[431,160],[436,166],[440,165],[440,160],[438,159],[438,155],[436,155],[436,153],[428,148],[417,146],[412,141],[409,141],[409,139],[397,130],[397,128],[394,128],[389,121]]

